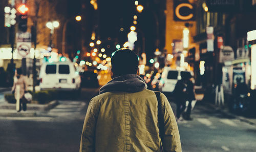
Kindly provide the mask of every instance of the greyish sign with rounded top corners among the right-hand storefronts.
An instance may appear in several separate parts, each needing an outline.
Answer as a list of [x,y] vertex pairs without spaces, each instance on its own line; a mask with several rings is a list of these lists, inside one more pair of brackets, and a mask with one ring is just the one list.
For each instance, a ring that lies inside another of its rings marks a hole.
[[229,46],[223,46],[220,50],[220,63],[224,63],[225,61],[230,61],[234,59],[233,49]]

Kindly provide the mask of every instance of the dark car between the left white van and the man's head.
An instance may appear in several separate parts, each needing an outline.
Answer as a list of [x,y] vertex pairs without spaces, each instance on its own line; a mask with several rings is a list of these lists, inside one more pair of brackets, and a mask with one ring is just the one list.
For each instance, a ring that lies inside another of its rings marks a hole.
[[99,81],[97,74],[94,71],[84,71],[80,72],[81,76],[81,86],[85,88],[98,88]]

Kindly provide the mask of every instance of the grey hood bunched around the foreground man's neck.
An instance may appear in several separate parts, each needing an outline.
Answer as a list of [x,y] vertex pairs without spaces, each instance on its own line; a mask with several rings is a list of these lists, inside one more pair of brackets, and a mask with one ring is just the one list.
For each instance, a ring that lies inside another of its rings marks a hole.
[[147,88],[145,81],[136,74],[118,76],[103,85],[99,94],[105,92],[140,92]]

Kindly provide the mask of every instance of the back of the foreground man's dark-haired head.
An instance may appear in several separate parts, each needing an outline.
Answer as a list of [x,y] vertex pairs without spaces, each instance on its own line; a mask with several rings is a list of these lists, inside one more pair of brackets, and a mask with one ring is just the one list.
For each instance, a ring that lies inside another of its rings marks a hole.
[[112,53],[111,66],[115,76],[136,74],[139,65],[138,55],[129,49],[119,49]]

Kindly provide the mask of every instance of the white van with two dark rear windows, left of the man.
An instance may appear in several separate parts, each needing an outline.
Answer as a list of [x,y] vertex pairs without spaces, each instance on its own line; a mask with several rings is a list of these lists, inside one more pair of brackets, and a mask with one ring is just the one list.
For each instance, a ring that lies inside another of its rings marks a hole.
[[47,62],[42,64],[39,73],[41,90],[74,90],[79,91],[81,78],[74,63]]

